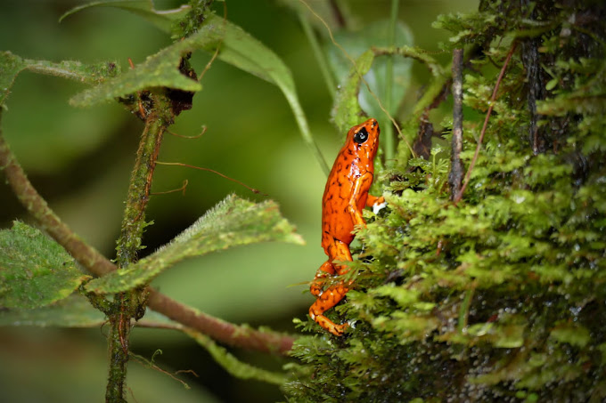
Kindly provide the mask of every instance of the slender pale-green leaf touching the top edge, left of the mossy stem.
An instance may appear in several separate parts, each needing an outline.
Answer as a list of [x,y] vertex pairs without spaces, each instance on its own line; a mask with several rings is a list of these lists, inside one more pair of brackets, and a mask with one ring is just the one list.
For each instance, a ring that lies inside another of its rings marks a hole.
[[114,0],[105,2],[93,2],[89,4],[78,5],[72,8],[69,12],[65,12],[63,15],[61,15],[59,22],[69,17],[71,14],[93,7],[114,7],[126,10],[127,12],[133,12],[134,14],[142,17],[143,20],[148,20],[157,28],[160,28],[168,34],[171,33],[174,22],[183,18],[184,15],[191,9],[189,5],[183,4],[181,7],[176,8],[174,10],[158,11],[154,8],[153,2],[151,0]]

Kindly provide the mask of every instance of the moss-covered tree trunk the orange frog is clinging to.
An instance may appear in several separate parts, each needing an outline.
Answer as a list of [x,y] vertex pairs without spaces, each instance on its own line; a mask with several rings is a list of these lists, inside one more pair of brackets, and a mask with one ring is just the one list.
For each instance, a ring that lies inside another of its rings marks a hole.
[[285,392],[604,401],[606,6],[482,1],[436,25],[465,52],[469,182],[451,201],[450,134],[429,160],[398,161],[389,209],[358,233],[354,290],[332,313],[356,327],[299,339],[305,364]]

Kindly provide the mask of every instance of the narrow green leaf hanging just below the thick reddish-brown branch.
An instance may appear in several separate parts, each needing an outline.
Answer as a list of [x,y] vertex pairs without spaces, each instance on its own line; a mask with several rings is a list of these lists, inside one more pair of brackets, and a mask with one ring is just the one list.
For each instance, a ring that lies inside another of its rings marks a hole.
[[230,354],[224,347],[221,347],[217,343],[215,343],[209,336],[206,334],[201,334],[194,330],[184,329],[186,334],[192,336],[192,338],[204,347],[209,354],[212,356],[215,361],[221,366],[224,367],[225,371],[229,374],[235,376],[240,379],[256,379],[258,381],[263,381],[266,383],[274,383],[276,385],[281,385],[286,381],[286,376],[277,373],[267,371],[266,369],[261,369],[258,367],[253,367],[250,364],[246,364],[239,359],[236,359],[232,354]]

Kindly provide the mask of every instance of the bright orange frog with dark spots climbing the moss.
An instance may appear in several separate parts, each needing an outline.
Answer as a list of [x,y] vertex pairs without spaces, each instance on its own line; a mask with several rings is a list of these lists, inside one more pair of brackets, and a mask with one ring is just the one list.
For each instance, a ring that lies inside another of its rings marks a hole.
[[379,133],[379,123],[372,118],[349,129],[345,145],[328,175],[322,198],[322,247],[328,260],[317,270],[311,283],[311,294],[317,299],[309,308],[309,316],[335,335],[343,334],[348,324],[337,325],[323,313],[339,303],[349,289],[341,282],[323,290],[323,279],[348,272],[348,266],[334,261],[351,262],[349,244],[355,237],[352,231],[356,225],[366,224],[362,209],[385,202],[382,196],[368,194],[373,183],[373,160],[379,146]]

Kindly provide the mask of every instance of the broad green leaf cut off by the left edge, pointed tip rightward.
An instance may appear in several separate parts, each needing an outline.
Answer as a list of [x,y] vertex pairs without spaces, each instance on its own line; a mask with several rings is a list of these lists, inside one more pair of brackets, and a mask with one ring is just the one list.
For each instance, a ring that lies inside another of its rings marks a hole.
[[0,230],[0,307],[42,307],[67,298],[87,278],[40,230],[22,222]]

